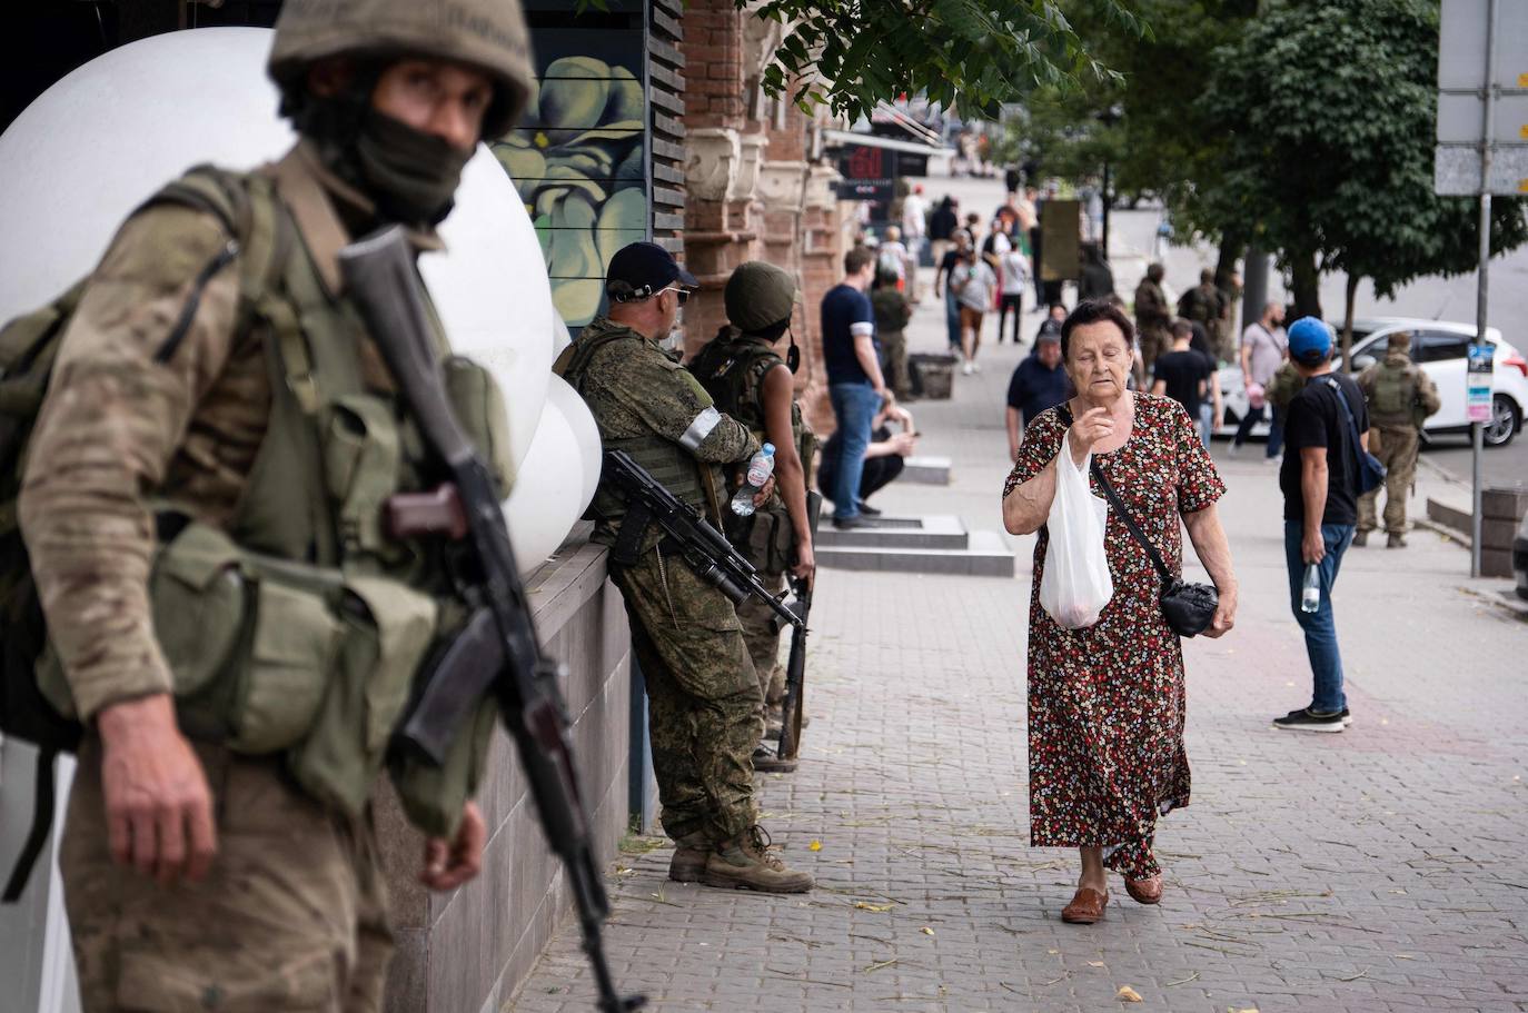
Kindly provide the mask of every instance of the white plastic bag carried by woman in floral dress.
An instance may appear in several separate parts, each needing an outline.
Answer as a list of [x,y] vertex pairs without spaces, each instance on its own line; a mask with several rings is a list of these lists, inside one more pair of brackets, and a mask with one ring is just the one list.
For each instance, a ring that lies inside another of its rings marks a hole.
[[1056,455],[1056,498],[1045,519],[1050,544],[1041,576],[1041,608],[1063,629],[1082,629],[1099,622],[1114,597],[1114,578],[1103,550],[1109,503],[1088,487],[1088,454],[1077,468],[1071,460],[1071,432]]

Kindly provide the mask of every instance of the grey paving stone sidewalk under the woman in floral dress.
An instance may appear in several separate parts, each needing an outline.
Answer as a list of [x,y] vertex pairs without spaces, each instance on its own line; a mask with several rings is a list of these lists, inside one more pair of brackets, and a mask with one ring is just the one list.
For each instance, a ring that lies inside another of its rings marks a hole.
[[[935,347],[932,313],[915,344]],[[952,402],[914,406],[920,452],[953,457],[955,484],[894,486],[883,507],[999,527],[1018,356],[993,350]],[[1158,830],[1160,908],[1115,889],[1102,923],[1063,924],[1076,853],[1028,846],[1033,539],[1016,538],[1016,581],[822,573],[804,762],[759,779],[766,827],[819,888],[681,886],[646,842],[610,879],[620,985],[727,1013],[1528,1010],[1528,626],[1435,535],[1354,550],[1335,605],[1357,721],[1273,730],[1309,694],[1276,480],[1221,466],[1242,608],[1232,636],[1187,645],[1193,801]],[[568,924],[506,1008],[591,996]]]

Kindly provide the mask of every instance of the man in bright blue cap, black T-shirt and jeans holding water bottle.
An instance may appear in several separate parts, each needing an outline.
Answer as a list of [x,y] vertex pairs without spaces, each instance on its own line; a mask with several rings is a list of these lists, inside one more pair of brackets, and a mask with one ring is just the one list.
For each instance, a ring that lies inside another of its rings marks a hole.
[[[1297,732],[1342,732],[1352,718],[1342,688],[1342,652],[1332,622],[1332,585],[1358,524],[1358,455],[1368,451],[1369,413],[1354,380],[1334,373],[1332,330],[1314,316],[1290,327],[1290,361],[1305,387],[1284,423],[1284,549],[1290,607],[1305,631],[1314,694],[1311,704],[1274,720]],[[1303,600],[1306,573],[1319,600]],[[1314,605],[1314,607],[1313,607]]]

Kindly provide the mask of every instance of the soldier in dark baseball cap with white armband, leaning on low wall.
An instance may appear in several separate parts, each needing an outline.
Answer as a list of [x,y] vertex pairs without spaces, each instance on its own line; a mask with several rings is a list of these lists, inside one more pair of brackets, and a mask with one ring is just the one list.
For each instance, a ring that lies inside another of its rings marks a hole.
[[[584,327],[553,370],[588,403],[605,449],[630,454],[720,527],[727,503],[720,466],[747,461],[759,442],[657,345],[695,286],[662,246],[617,251],[605,275],[610,313]],[[811,877],[787,869],[758,827],[753,749],[764,735],[762,694],[732,600],[695,574],[657,524],[630,529],[623,503],[604,484],[593,513],[594,541],[611,545],[611,579],[626,600],[648,686],[663,830],[678,845],[669,879],[811,889]]]

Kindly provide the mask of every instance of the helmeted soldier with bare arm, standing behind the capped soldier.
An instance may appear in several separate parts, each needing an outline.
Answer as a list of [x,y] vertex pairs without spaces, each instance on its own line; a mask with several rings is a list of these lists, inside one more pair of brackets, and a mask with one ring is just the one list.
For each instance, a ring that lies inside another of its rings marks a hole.
[[[902,299],[900,292],[892,289],[892,293]],[[717,408],[746,425],[759,442],[775,445],[775,495],[752,516],[740,518],[729,510],[726,532],[758,567],[764,585],[781,594],[785,570],[805,581],[816,571],[807,515],[807,475],[816,437],[801,417],[793,370],[775,351],[790,328],[796,283],[779,267],[750,260],[732,272],[724,298],[730,322],[697,353],[689,370]],[[767,733],[778,738],[785,672],[779,665],[775,613],[749,599],[738,607],[738,619],[764,694]],[[761,747],[753,753],[753,769],[788,772],[796,764]]]

